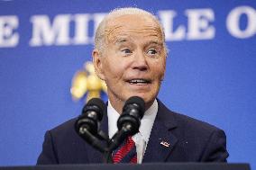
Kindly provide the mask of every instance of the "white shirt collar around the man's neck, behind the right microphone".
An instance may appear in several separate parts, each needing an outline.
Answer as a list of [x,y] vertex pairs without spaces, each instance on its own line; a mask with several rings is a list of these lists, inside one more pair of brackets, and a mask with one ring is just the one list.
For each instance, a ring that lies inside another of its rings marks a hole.
[[[151,136],[151,129],[153,127],[156,115],[158,112],[158,102],[157,100],[151,105],[151,107],[144,113],[144,116],[141,121],[140,133],[142,135],[142,139],[148,142]],[[107,117],[108,117],[108,135],[111,139],[114,136],[114,133],[118,130],[116,126],[116,122],[119,118],[120,114],[115,111],[114,107],[108,101],[107,105]]]

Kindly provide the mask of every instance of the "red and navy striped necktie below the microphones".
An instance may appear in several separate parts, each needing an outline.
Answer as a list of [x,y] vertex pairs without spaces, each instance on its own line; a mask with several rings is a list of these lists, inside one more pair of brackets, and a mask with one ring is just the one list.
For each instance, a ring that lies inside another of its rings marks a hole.
[[132,137],[124,140],[123,144],[113,152],[113,162],[137,164],[136,146]]

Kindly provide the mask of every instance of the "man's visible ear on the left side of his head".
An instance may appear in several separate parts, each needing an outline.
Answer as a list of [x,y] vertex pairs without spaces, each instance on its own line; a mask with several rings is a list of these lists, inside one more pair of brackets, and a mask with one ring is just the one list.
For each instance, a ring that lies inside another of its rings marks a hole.
[[100,52],[98,49],[94,49],[92,52],[93,57],[93,63],[96,71],[96,75],[102,79],[105,80],[104,71],[103,71],[103,60],[104,58],[100,56]]

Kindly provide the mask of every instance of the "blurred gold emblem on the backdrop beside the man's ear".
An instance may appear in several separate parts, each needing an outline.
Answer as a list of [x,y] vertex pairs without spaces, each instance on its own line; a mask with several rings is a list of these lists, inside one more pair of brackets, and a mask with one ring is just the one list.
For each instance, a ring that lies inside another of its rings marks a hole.
[[80,100],[87,94],[87,101],[91,98],[100,98],[100,92],[106,93],[105,82],[96,76],[95,67],[92,62],[86,62],[84,69],[79,70],[73,76],[70,93],[74,101]]

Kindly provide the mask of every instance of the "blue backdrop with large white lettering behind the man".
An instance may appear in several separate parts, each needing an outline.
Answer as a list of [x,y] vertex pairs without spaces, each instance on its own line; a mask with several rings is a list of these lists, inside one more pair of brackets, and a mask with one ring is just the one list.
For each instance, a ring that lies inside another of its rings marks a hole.
[[0,0],[0,166],[34,165],[44,132],[80,114],[72,77],[91,59],[96,24],[123,6],[155,13],[165,28],[160,100],[225,130],[228,161],[255,169],[254,0]]

